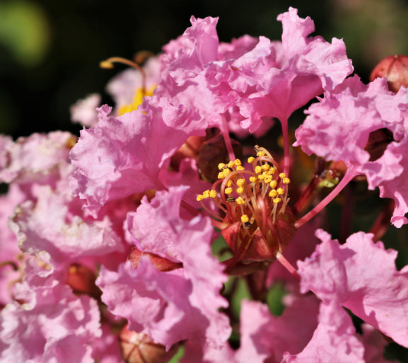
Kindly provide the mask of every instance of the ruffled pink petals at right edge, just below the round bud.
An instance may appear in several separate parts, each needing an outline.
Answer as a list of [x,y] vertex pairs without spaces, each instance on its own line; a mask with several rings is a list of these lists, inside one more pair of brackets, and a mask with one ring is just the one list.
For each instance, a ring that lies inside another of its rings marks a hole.
[[[327,161],[344,161],[348,178],[366,175],[370,189],[380,188],[381,197],[395,200],[392,223],[408,222],[408,192],[402,182],[407,176],[408,95],[401,88],[396,95],[388,91],[385,79],[375,79],[367,86],[358,76],[346,79],[320,103],[306,111],[303,125],[296,130],[296,143],[306,154],[322,156]],[[375,156],[366,150],[372,132],[387,129],[392,139],[383,154]]]

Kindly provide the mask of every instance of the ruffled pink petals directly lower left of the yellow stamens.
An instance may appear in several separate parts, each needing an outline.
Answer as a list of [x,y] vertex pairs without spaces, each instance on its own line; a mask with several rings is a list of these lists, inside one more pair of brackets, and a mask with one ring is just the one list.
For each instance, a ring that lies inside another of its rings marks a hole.
[[117,272],[103,268],[97,284],[110,311],[127,318],[130,330],[146,333],[168,349],[186,339],[217,347],[231,333],[228,318],[218,311],[227,306],[219,295],[226,276],[211,256],[209,219],[180,218],[185,190],[156,192],[150,203],[144,198],[127,220],[137,248],[182,263],[182,268],[159,271],[142,256],[136,266],[127,261]]

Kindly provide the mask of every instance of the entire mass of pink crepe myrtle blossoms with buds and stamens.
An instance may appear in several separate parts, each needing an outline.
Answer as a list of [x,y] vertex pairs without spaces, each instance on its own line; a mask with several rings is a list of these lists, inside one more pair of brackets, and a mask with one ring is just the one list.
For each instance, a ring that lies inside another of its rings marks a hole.
[[[380,363],[408,347],[408,267],[378,241],[407,222],[407,90],[346,78],[342,40],[294,8],[278,20],[281,41],[225,43],[192,17],[143,67],[102,62],[134,68],[107,86],[114,108],[74,105],[78,138],[0,137],[1,362]],[[289,152],[289,117],[316,96]],[[231,139],[273,117],[283,152]],[[394,212],[342,223],[339,243],[313,217],[357,175]]]

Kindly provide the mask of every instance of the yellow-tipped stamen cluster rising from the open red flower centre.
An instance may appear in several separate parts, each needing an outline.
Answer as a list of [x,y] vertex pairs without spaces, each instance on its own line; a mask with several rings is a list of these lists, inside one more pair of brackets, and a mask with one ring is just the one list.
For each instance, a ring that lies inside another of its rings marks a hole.
[[[199,202],[211,199],[224,212],[225,226],[239,222],[242,234],[238,238],[250,243],[255,233],[267,242],[272,250],[281,251],[276,219],[291,214],[288,211],[288,184],[291,180],[279,173],[279,165],[269,152],[255,146],[256,157],[247,159],[248,168],[240,159],[218,164],[218,180],[211,190],[197,196]],[[252,169],[252,170],[251,170]],[[218,221],[221,219],[202,202],[204,209]],[[227,241],[228,242],[228,241]],[[284,243],[286,245],[286,243]],[[279,246],[276,249],[276,246]]]

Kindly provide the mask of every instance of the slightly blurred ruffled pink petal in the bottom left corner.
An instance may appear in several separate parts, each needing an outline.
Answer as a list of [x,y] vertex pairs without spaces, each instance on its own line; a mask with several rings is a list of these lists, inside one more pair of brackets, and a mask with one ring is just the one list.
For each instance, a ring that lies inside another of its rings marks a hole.
[[91,340],[100,336],[97,302],[58,283],[32,293],[34,306],[13,301],[1,311],[1,361],[93,363]]

